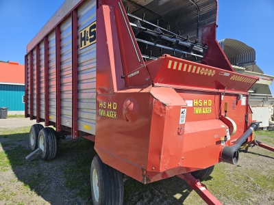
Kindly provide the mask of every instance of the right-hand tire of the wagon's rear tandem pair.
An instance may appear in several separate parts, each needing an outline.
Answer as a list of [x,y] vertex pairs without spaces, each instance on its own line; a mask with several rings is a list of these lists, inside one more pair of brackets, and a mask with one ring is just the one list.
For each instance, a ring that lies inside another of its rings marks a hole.
[[[43,139],[42,139],[43,138]],[[41,147],[41,140],[44,146]],[[57,153],[57,141],[55,130],[51,127],[42,128],[38,135],[38,148],[42,150],[40,154],[42,159],[54,159]]]

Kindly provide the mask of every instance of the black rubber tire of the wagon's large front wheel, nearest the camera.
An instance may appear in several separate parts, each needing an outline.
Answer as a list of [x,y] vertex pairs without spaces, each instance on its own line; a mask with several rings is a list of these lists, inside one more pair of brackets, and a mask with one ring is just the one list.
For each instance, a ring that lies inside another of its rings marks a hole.
[[[99,196],[96,200],[93,190],[93,171],[96,170],[99,187]],[[123,174],[118,170],[106,165],[98,155],[92,159],[90,167],[90,184],[93,204],[122,205],[124,197]]]

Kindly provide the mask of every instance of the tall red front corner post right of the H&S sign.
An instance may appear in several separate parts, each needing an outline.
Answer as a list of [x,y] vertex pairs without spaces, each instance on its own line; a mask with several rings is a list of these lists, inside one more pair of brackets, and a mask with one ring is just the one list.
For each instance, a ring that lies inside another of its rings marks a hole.
[[108,5],[97,10],[97,44],[101,45],[96,53],[98,94],[114,94],[125,87],[114,16],[114,9]]

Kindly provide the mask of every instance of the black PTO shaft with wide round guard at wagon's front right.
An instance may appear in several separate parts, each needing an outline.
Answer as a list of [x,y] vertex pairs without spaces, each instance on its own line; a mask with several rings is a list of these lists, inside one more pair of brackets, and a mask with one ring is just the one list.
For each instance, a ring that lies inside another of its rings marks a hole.
[[238,159],[239,159],[238,149],[240,148],[240,146],[242,146],[242,143],[245,142],[247,137],[249,137],[249,135],[251,135],[253,131],[256,131],[258,129],[259,124],[260,122],[252,122],[249,128],[247,129],[247,131],[245,131],[245,133],[243,133],[242,136],[240,136],[235,141],[233,146],[226,146],[225,148],[223,148],[223,151],[222,151],[223,162],[229,163],[232,165],[236,165],[236,163],[238,163]]

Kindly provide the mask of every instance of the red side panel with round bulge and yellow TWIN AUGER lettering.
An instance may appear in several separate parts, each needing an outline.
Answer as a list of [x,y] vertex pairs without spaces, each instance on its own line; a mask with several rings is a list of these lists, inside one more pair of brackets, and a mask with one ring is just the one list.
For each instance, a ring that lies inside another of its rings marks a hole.
[[[127,87],[112,96],[97,96],[95,149],[107,151],[139,169],[147,167],[152,111],[149,88]],[[113,167],[125,172],[117,163]]]

